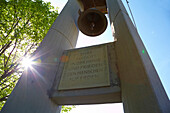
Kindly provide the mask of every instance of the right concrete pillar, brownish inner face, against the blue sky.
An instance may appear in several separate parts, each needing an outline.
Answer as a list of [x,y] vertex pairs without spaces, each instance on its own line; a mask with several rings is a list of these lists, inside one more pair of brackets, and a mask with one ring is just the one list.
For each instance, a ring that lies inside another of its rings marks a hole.
[[106,0],[125,113],[170,113],[169,99],[121,0]]

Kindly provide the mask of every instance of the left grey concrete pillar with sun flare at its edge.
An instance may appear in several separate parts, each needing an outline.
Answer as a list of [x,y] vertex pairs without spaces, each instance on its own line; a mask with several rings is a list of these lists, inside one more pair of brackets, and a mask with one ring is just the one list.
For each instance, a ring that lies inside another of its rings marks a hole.
[[41,61],[25,70],[1,113],[59,113],[48,93],[52,87],[62,53],[74,48],[78,37],[79,5],[69,0],[33,57]]

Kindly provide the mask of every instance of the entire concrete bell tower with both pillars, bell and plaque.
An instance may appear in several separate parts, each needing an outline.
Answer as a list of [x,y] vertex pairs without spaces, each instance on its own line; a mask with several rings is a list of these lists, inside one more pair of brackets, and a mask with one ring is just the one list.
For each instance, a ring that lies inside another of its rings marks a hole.
[[[117,41],[75,49],[79,30]],[[142,53],[145,51],[145,54]],[[55,61],[65,57],[65,60]],[[125,113],[170,113],[170,103],[121,0],[68,0],[1,113],[59,113],[60,105],[122,102]]]

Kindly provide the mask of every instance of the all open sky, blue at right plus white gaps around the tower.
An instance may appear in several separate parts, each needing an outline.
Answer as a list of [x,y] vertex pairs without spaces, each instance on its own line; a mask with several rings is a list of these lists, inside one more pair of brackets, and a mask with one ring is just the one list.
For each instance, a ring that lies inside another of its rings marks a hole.
[[[61,11],[67,2],[67,0],[45,1],[50,1],[52,2],[52,5],[58,6],[59,11]],[[126,0],[122,1],[125,7],[127,7]],[[170,98],[170,0],[128,1],[133,12],[133,16],[135,18],[141,39]],[[80,33],[77,47],[96,45],[111,41],[113,41],[113,37],[110,26],[108,26],[106,32],[98,37],[87,37]],[[115,110],[114,107],[117,111],[113,111]],[[90,110],[87,111],[87,108]],[[96,111],[96,109],[98,109],[98,111]],[[80,111],[81,113],[123,113],[122,109],[123,108],[121,104],[102,106],[77,106],[70,113],[78,113]]]

